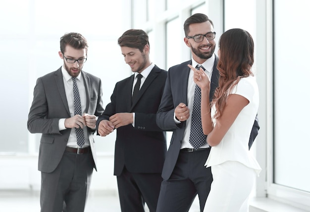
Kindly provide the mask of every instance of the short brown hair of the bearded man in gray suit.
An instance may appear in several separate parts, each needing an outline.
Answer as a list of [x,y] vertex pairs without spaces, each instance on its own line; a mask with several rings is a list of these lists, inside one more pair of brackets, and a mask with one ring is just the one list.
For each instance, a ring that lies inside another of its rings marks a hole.
[[60,51],[64,53],[67,45],[70,45],[74,49],[81,50],[88,48],[87,40],[80,33],[70,32],[64,34],[60,38]]

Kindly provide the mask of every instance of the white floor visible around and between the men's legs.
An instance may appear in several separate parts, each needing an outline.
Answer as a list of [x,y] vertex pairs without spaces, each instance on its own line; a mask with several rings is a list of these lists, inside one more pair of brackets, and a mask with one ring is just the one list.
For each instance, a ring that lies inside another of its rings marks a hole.
[[[199,212],[195,200],[190,212]],[[1,212],[40,212],[38,192],[0,191]],[[146,206],[146,212],[149,212]],[[117,194],[90,194],[85,212],[120,212]]]

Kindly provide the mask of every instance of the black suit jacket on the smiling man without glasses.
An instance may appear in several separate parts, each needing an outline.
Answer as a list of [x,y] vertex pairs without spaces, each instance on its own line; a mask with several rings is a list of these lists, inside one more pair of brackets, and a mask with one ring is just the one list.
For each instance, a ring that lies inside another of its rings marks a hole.
[[116,83],[111,102],[97,120],[108,120],[119,112],[135,112],[132,124],[117,128],[114,156],[114,175],[119,176],[126,166],[136,173],[161,173],[167,151],[166,136],[156,125],[167,71],[156,65],[143,83],[136,102],[131,104],[134,74]]

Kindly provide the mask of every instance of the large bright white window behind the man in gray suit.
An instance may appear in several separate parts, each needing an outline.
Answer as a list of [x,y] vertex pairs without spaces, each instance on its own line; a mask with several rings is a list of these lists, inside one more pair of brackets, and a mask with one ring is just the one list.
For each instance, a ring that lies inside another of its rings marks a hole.
[[[108,8],[120,5],[125,8],[127,1],[111,1]],[[38,152],[41,135],[30,134],[27,129],[33,89],[38,77],[62,65],[58,51],[59,39],[64,33],[79,32],[88,40],[84,70],[103,80],[104,106],[109,102],[114,84],[131,74],[117,45],[117,38],[130,27],[124,21],[128,14],[115,15],[115,11],[108,8],[97,0],[54,0],[49,4],[14,0],[1,5],[0,155]],[[113,135],[95,139],[100,141],[97,142],[99,152],[114,152]]]

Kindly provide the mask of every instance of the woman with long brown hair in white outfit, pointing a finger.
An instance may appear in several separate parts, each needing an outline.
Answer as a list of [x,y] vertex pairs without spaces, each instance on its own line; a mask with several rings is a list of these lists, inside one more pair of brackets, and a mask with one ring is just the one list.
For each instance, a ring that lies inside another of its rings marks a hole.
[[254,42],[242,29],[230,29],[219,40],[219,85],[209,103],[210,79],[194,70],[201,87],[204,134],[211,146],[206,166],[213,182],[205,212],[248,212],[248,199],[261,170],[249,152],[251,129],[258,112],[258,85],[252,73]]

